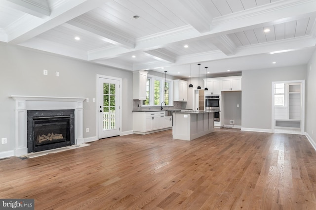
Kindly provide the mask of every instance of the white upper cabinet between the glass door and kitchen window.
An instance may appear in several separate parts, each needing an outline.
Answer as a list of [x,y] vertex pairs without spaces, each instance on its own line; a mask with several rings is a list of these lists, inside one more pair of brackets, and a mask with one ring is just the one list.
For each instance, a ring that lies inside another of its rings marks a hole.
[[133,72],[133,99],[146,100],[148,71]]

